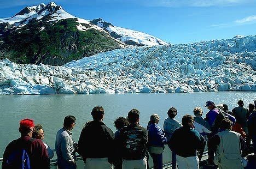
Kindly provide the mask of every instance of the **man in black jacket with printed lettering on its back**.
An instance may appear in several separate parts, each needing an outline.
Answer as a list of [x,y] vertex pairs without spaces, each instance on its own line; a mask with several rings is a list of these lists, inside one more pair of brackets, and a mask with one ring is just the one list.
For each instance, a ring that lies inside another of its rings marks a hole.
[[118,154],[123,157],[123,169],[147,168],[146,152],[148,131],[139,125],[139,111],[132,109],[128,113],[129,125],[120,130],[115,138]]

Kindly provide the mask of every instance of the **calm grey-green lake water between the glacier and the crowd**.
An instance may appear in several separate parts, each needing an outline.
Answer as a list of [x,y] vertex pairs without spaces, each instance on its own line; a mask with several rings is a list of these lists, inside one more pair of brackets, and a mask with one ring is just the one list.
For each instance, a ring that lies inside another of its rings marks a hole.
[[[114,119],[126,117],[132,108],[140,111],[140,124],[147,126],[150,115],[160,116],[159,125],[170,107],[176,107],[176,119],[181,121],[184,114],[192,114],[194,107],[203,108],[203,116],[208,112],[206,101],[227,104],[232,110],[242,99],[245,107],[256,99],[255,92],[203,92],[203,93],[150,93],[150,94],[90,94],[90,95],[0,95],[0,157],[7,144],[20,137],[19,120],[32,118],[42,124],[45,132],[44,142],[54,149],[57,130],[62,128],[67,115],[77,118],[73,138],[78,141],[83,125],[92,120],[91,110],[100,105],[105,110],[103,122],[114,132]],[[166,147],[167,148],[167,147]],[[168,148],[167,148],[168,149]],[[164,156],[164,159],[167,158]]]

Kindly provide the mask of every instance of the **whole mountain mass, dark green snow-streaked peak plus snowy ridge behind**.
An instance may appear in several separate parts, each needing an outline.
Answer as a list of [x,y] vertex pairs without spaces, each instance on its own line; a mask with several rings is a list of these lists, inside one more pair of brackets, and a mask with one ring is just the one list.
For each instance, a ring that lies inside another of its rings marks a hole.
[[[119,32],[109,31],[121,30]],[[122,32],[123,30],[123,32]],[[126,33],[124,33],[124,30]],[[62,65],[129,45],[165,45],[153,36],[75,17],[51,2],[26,7],[0,19],[0,59],[16,63]],[[123,41],[123,42],[122,42]]]

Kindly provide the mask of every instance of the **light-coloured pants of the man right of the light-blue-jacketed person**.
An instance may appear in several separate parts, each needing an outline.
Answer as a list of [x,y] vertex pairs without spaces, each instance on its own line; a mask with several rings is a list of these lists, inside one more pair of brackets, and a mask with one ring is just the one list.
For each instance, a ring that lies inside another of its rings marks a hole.
[[179,169],[199,169],[199,158],[197,156],[182,157],[176,155]]

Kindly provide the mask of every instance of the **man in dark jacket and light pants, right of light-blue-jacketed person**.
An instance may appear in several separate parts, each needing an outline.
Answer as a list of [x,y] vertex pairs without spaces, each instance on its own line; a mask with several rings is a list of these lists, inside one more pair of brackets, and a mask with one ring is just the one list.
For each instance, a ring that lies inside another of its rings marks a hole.
[[204,138],[192,129],[194,118],[190,114],[182,117],[182,126],[173,132],[170,140],[171,149],[177,154],[179,168],[199,168],[196,150],[203,146]]

